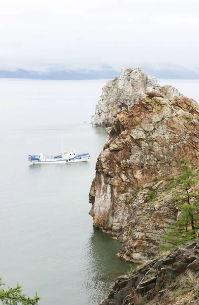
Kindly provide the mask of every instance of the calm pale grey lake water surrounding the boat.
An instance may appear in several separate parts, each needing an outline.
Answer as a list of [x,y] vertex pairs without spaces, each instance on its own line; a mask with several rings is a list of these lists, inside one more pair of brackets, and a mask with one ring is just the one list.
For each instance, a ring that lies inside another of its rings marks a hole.
[[[0,80],[1,274],[44,305],[97,305],[130,263],[92,227],[88,194],[107,134],[89,122],[105,80]],[[199,100],[198,83],[160,80]],[[82,123],[86,121],[87,123]],[[32,165],[29,154],[88,150],[87,163]]]

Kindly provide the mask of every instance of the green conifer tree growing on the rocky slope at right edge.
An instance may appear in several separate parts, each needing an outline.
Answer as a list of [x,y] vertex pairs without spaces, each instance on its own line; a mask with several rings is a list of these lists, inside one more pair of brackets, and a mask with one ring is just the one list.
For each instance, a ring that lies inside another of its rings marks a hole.
[[[161,247],[163,250],[172,250],[185,242],[195,239],[196,231],[198,229],[199,195],[190,192],[191,187],[197,183],[198,177],[194,173],[194,170],[189,167],[189,160],[183,158],[182,162],[183,174],[180,175],[176,181],[180,193],[178,196],[174,197],[174,201],[179,202],[181,215],[179,221],[173,226],[167,227],[167,235],[162,236],[165,242],[173,245],[163,245]],[[193,202],[191,202],[191,198],[194,198]]]

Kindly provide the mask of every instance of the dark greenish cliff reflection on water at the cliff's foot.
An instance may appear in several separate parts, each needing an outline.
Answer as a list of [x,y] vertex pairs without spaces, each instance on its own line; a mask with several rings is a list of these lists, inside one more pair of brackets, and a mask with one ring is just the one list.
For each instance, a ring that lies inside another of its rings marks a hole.
[[[87,257],[87,275],[83,283],[85,304],[97,305],[118,276],[128,272],[135,264],[117,257],[121,244],[113,235],[94,228],[84,251]],[[87,293],[89,291],[89,294]]]

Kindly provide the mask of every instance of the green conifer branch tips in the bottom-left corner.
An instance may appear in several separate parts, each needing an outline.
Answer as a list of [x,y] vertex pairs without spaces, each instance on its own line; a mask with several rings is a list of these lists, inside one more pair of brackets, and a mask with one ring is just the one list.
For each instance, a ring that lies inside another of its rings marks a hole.
[[2,278],[0,278],[0,300],[4,305],[37,305],[40,297],[38,297],[37,292],[35,293],[34,298],[30,298],[26,296],[26,294],[22,293],[22,286],[19,286],[17,283],[16,287],[5,290],[3,287],[5,284],[2,282]]

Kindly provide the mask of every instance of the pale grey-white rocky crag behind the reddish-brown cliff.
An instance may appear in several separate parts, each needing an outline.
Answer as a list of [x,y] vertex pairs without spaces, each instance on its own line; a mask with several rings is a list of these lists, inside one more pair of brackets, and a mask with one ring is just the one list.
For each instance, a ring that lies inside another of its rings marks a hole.
[[156,86],[156,78],[147,76],[137,67],[136,69],[122,68],[121,75],[109,80],[102,88],[102,95],[96,106],[92,124],[109,127],[113,117],[122,107],[129,109],[134,102],[144,98],[146,92]]

